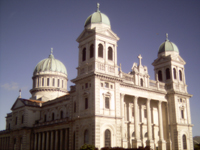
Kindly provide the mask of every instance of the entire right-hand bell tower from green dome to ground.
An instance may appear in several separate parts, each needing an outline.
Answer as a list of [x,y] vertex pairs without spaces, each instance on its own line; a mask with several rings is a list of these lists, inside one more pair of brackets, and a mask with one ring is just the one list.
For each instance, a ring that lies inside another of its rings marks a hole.
[[[190,117],[189,99],[192,95],[187,92],[184,65],[186,62],[179,55],[178,47],[169,41],[168,34],[158,51],[158,58],[154,60],[155,77],[158,82],[165,83],[168,100],[169,137],[174,144],[167,149],[193,149],[192,124]],[[187,126],[187,127],[186,127]],[[178,144],[178,143],[182,144]]]

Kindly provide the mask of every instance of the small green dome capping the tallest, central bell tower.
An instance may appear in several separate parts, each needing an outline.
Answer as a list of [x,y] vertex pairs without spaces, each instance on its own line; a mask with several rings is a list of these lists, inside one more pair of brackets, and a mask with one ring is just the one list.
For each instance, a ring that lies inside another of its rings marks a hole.
[[97,11],[86,19],[85,27],[92,23],[103,23],[110,26],[109,18],[99,11],[99,3],[97,3]]

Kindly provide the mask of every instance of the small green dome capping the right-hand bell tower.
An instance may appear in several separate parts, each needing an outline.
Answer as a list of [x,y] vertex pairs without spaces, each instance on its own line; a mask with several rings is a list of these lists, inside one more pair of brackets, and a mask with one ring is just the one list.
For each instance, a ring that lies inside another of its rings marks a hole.
[[160,47],[159,47],[159,51],[158,54],[162,53],[162,52],[167,52],[167,51],[174,51],[179,53],[178,47],[176,46],[176,44],[170,42],[168,40],[168,34],[166,34],[166,40],[165,42],[163,42]]

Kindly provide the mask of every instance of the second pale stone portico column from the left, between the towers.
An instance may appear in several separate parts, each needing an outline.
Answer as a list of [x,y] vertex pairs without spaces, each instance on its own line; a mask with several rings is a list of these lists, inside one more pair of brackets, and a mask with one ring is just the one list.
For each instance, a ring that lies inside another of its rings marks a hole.
[[141,140],[139,135],[139,113],[138,113],[138,97],[133,97],[133,104],[134,104],[134,129],[135,129],[135,140],[133,140],[133,148],[138,148],[141,146]]

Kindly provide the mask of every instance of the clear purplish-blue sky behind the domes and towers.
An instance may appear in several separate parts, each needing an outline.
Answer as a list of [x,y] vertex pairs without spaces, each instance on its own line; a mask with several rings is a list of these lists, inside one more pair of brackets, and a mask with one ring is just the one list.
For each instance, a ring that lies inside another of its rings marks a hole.
[[[0,1],[0,130],[5,116],[22,89],[30,98],[33,70],[53,54],[66,66],[68,87],[76,77],[78,43],[85,20],[96,11],[106,14],[119,36],[118,65],[128,73],[137,56],[148,67],[157,58],[165,33],[186,61],[185,74],[190,99],[193,136],[200,135],[200,1],[199,0],[1,0]],[[69,88],[68,88],[69,90]]]

